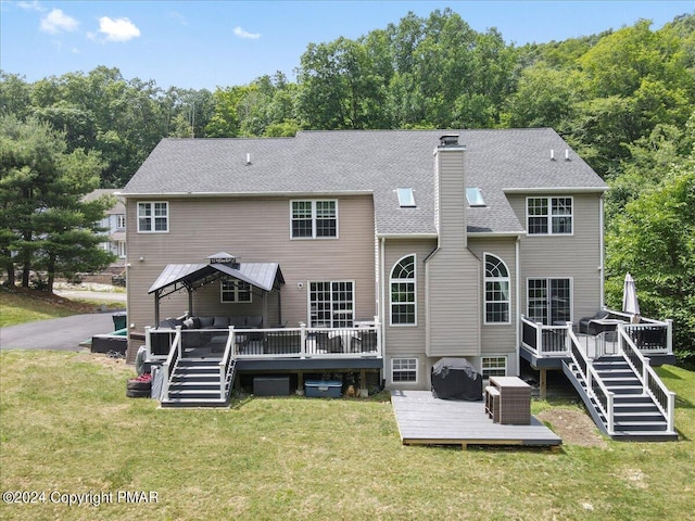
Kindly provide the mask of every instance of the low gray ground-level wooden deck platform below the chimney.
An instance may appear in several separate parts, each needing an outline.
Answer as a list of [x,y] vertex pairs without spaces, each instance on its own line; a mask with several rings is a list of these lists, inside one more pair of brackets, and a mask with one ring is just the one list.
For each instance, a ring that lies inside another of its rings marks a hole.
[[493,423],[484,402],[440,399],[430,391],[393,391],[404,445],[526,445],[557,447],[563,440],[531,417],[530,425]]

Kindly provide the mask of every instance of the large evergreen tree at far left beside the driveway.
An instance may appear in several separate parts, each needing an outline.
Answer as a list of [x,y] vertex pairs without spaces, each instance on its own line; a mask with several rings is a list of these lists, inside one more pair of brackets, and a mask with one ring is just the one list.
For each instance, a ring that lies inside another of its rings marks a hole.
[[37,118],[21,122],[0,115],[0,262],[8,283],[22,268],[22,285],[31,270],[56,276],[98,270],[113,255],[98,247],[98,221],[113,201],[83,202],[99,186],[98,154],[67,151],[63,132]]

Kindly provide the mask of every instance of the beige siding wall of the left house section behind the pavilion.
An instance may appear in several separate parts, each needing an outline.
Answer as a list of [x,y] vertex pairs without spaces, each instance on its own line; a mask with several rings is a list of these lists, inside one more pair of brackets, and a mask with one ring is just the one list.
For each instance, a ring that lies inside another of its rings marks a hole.
[[[292,199],[338,199],[339,239],[291,240]],[[286,280],[282,321],[288,327],[308,319],[308,281],[354,281],[355,319],[371,319],[377,314],[371,195],[162,200],[169,202],[168,233],[138,233],[137,200],[128,200],[128,321],[135,325],[132,329],[153,326],[154,297],[147,292],[167,264],[205,263],[208,255],[220,251],[242,263],[279,263]],[[257,295],[251,304],[220,303],[218,282],[195,292],[193,303],[198,315],[260,315],[262,306]],[[161,317],[179,316],[187,309],[186,291],[179,292],[162,301]],[[274,295],[268,310],[268,321],[277,322]]]

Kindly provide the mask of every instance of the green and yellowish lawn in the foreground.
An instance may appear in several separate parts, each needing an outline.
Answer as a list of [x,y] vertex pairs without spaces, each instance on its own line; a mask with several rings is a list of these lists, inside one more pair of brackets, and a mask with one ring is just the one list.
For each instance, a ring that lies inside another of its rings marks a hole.
[[[123,361],[0,354],[0,487],[154,491],[156,504],[0,505],[42,519],[685,519],[695,511],[695,374],[678,443],[542,449],[401,445],[388,402],[245,398],[230,410],[157,409],[125,397]],[[536,402],[534,410],[566,404]]]

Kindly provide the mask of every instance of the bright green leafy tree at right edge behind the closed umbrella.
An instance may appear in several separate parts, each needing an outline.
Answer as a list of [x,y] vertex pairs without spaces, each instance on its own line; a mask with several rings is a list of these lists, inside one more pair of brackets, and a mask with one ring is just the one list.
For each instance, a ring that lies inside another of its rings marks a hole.
[[672,318],[677,354],[695,361],[695,153],[626,204],[606,242],[609,303],[630,271],[642,313]]

